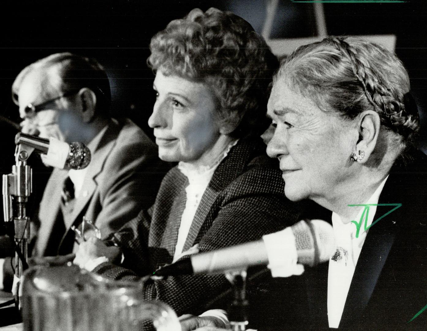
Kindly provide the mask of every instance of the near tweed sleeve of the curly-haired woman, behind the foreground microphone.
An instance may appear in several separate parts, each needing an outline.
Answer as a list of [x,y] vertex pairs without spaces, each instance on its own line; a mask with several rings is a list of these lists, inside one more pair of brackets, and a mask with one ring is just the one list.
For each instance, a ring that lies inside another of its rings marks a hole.
[[[299,217],[299,211],[284,198],[280,174],[272,169],[245,173],[224,194],[213,223],[205,225],[210,227],[200,238],[200,252],[258,240]],[[144,296],[161,299],[178,315],[199,314],[206,302],[228,288],[224,275],[185,275],[146,283]]]

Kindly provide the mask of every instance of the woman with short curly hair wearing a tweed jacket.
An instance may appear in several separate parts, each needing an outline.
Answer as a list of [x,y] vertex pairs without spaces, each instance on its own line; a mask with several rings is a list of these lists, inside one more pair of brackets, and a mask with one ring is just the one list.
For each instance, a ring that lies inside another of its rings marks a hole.
[[[194,9],[155,35],[150,49],[156,102],[149,126],[159,157],[178,166],[153,207],[115,234],[122,266],[111,263],[118,248],[100,240],[82,243],[75,260],[122,280],[152,275],[190,252],[259,239],[301,214],[285,200],[281,172],[259,137],[278,62],[252,26],[229,12]],[[178,315],[197,314],[228,286],[223,275],[150,279],[144,296]]]

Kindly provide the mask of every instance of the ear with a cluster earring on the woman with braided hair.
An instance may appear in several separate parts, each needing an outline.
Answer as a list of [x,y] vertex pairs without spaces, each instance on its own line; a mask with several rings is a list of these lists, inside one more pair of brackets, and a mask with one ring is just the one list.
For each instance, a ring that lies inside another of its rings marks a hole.
[[374,152],[378,135],[380,134],[380,127],[380,115],[375,111],[363,111],[357,116],[359,139],[353,152],[357,156],[363,155],[357,159],[359,163],[366,163]]

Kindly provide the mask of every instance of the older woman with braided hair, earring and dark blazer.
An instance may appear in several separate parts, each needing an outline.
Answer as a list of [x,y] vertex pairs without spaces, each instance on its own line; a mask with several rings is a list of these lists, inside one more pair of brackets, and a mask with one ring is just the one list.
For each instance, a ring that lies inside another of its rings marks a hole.
[[427,163],[413,147],[419,116],[409,89],[395,55],[356,38],[300,47],[281,64],[267,153],[289,199],[333,212],[336,250],[284,291],[307,306],[279,307],[278,330],[425,330]]

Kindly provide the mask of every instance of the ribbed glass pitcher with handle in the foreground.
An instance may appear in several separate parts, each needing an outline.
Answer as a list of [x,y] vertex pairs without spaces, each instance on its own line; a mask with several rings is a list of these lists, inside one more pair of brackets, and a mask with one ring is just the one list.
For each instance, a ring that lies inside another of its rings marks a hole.
[[164,302],[143,300],[143,284],[113,281],[77,266],[38,265],[22,281],[24,331],[180,331]]

